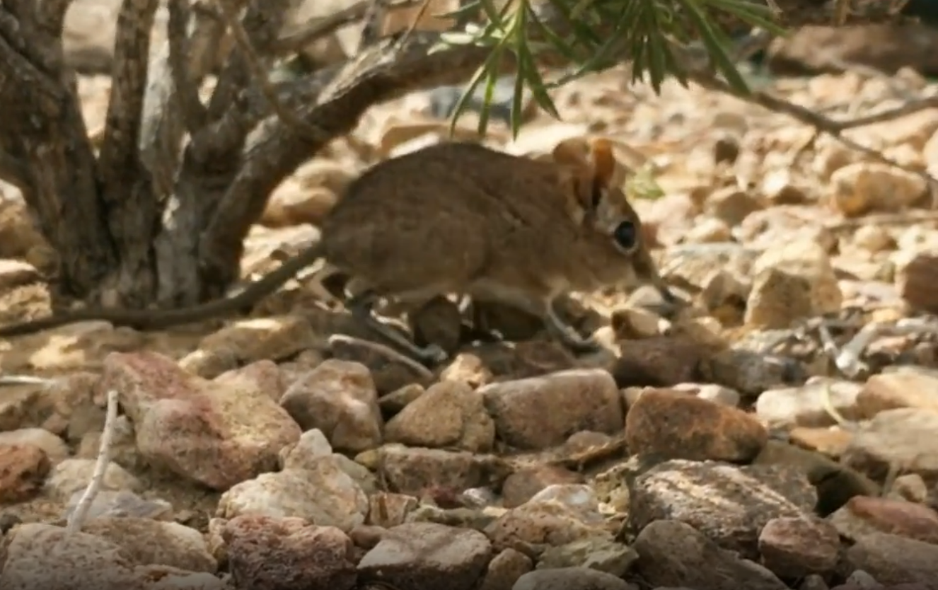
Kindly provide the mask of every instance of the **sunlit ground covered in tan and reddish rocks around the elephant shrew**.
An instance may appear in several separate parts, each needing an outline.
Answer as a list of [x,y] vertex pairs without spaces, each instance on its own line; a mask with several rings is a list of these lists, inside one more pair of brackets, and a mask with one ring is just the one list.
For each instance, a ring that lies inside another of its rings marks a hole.
[[[911,70],[762,87],[846,119],[938,96]],[[89,129],[109,80],[80,83]],[[436,98],[439,98],[439,94]],[[140,333],[83,323],[0,340],[0,587],[528,590],[938,588],[938,109],[850,129],[621,70],[531,110],[519,154],[602,133],[658,174],[637,207],[688,309],[571,298],[603,353],[530,318],[463,338],[409,322],[433,371],[366,340],[302,280],[250,318]],[[369,113],[277,189],[243,266],[314,234],[345,183],[440,141],[419,95]],[[461,135],[474,125],[466,120]],[[0,323],[50,313],[53,253],[0,201]],[[82,531],[64,524],[120,414]]]

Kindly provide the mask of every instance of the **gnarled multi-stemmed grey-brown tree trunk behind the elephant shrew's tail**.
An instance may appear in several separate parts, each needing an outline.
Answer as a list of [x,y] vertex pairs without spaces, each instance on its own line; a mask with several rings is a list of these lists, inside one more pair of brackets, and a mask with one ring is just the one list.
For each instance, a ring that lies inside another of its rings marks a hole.
[[[211,14],[214,1],[190,2],[170,0],[168,43],[149,59],[159,0],[124,1],[97,159],[74,74],[63,66],[68,0],[0,6],[0,175],[23,190],[58,250],[68,295],[125,308],[222,295],[238,277],[250,225],[286,176],[354,129],[372,105],[461,83],[488,56],[477,47],[431,53],[440,39],[431,32],[402,45],[381,40],[351,63],[280,85],[283,105],[305,122],[297,129],[271,114],[237,48],[202,103],[197,88],[225,25]],[[789,25],[832,16],[825,2],[775,3]],[[845,23],[882,21],[887,4],[852,0]],[[282,15],[293,8],[295,0],[250,0],[241,23],[258,53],[276,45]]]

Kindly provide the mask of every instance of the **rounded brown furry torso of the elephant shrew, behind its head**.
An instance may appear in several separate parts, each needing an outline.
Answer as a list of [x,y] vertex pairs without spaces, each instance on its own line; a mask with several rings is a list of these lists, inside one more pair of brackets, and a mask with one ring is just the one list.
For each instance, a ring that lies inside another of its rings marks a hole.
[[325,255],[386,291],[458,291],[506,236],[550,237],[541,228],[562,211],[559,199],[549,206],[556,194],[551,164],[478,144],[432,145],[376,164],[348,186],[323,224]]

